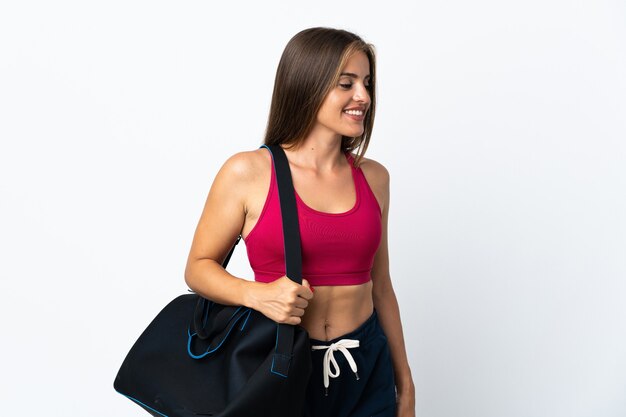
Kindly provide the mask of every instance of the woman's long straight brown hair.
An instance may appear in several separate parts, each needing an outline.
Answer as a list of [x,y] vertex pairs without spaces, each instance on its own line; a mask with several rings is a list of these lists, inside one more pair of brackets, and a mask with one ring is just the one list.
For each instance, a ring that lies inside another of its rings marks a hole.
[[355,166],[358,166],[374,125],[376,56],[374,45],[342,29],[304,29],[287,43],[276,70],[265,145],[289,145],[285,148],[302,145],[315,125],[324,98],[339,81],[341,69],[359,51],[369,59],[371,104],[363,120],[363,134],[341,138],[342,152],[359,148],[355,158]]

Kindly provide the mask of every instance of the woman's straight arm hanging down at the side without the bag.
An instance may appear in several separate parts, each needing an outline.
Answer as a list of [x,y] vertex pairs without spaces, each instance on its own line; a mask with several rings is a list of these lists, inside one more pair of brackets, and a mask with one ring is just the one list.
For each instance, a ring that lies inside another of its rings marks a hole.
[[[389,172],[387,169],[375,163],[376,173],[370,177],[371,183],[375,184],[376,194],[382,204],[382,236],[380,246],[374,256],[372,267],[374,307],[378,314],[381,327],[383,328],[393,362],[396,389],[398,395],[398,417],[415,416],[415,386],[411,376],[411,368],[406,354],[402,323],[400,321],[400,309],[398,300],[391,284],[389,274],[389,251],[387,246],[387,224],[389,218]],[[372,167],[373,168],[373,167]]]

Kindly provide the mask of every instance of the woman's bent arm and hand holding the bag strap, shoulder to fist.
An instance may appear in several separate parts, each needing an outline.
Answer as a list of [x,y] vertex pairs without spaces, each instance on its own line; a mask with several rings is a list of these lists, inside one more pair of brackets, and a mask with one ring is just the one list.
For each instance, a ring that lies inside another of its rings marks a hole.
[[185,282],[202,297],[220,304],[243,305],[280,323],[299,324],[313,293],[306,280],[299,285],[286,276],[269,284],[230,274],[222,262],[239,236],[246,199],[254,184],[252,152],[234,154],[220,168],[194,233],[185,267]]

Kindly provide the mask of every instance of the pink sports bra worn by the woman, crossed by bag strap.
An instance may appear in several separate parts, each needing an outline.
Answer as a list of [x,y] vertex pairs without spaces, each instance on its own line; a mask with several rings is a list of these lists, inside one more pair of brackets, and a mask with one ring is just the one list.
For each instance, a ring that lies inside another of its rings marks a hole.
[[[307,206],[296,192],[302,246],[302,277],[312,286],[356,285],[371,279],[374,255],[381,240],[381,209],[361,168],[345,153],[356,189],[356,203],[343,213]],[[255,281],[271,282],[285,275],[280,200],[273,161],[265,204],[244,239]]]

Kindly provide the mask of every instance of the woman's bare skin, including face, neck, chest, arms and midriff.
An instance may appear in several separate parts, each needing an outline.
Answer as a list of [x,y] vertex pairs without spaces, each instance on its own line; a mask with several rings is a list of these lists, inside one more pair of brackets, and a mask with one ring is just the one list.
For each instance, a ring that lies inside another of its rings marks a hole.
[[[354,206],[356,190],[351,168],[341,153],[341,135],[363,133],[363,122],[343,110],[370,105],[367,55],[353,55],[338,85],[326,96],[316,125],[303,145],[285,150],[294,188],[309,207],[341,213]],[[249,281],[227,272],[222,262],[241,234],[247,238],[263,209],[271,179],[271,156],[265,148],[231,156],[217,173],[196,228],[185,281],[198,294],[223,304],[245,305],[272,320],[297,324],[310,337],[330,340],[359,327],[376,308],[387,336],[398,390],[399,417],[415,415],[415,388],[409,368],[398,302],[389,274],[387,224],[389,172],[364,158],[360,168],[382,210],[382,239],[374,257],[372,280],[361,285],[311,288],[283,276],[271,283]],[[319,190],[324,190],[320,193]]]

